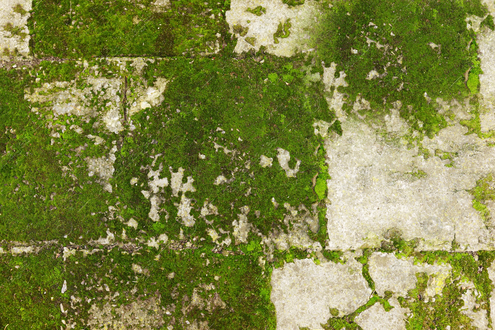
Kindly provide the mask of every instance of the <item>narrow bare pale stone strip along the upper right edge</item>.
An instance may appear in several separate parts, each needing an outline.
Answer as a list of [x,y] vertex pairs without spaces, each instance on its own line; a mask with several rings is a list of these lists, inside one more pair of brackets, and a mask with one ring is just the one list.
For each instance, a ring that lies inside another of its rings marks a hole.
[[[494,16],[494,1],[482,2]],[[483,96],[480,105],[482,109],[484,108],[480,113],[481,131],[488,132],[495,130],[495,31],[485,29],[484,33],[478,34],[476,42],[480,52],[480,66],[483,70],[483,74],[480,74],[480,94]]]

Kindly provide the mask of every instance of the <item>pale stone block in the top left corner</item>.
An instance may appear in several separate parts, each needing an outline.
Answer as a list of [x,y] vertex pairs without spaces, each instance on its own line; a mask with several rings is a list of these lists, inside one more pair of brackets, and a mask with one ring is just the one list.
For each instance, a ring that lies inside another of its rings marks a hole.
[[[24,15],[15,12],[14,7],[16,5],[20,5],[22,9],[28,12]],[[0,0],[0,56],[8,55],[8,53],[12,55],[29,55],[31,36],[26,24],[31,16],[30,10],[30,0]],[[6,31],[5,26],[7,24],[11,24],[14,29],[20,28],[21,34],[12,34],[12,31]],[[22,33],[25,35],[22,35]],[[17,50],[17,54],[15,50]]]

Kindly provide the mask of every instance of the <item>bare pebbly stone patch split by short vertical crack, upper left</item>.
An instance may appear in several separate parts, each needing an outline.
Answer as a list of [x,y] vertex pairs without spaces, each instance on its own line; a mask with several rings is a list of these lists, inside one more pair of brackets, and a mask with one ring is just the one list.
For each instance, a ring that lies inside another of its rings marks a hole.
[[[112,63],[121,65],[121,70],[126,70],[124,63],[132,61],[130,64],[138,72],[143,70],[144,66],[147,66],[147,61],[153,61],[153,59],[145,59],[141,57],[137,58],[107,58],[106,63]],[[123,123],[123,105],[119,94],[123,94],[123,80],[122,78],[105,78],[101,77],[99,72],[99,66],[95,65],[89,67],[87,61],[77,61],[77,65],[82,69],[87,69],[89,76],[71,82],[55,82],[45,83],[41,88],[35,88],[33,93],[30,93],[29,89],[25,90],[24,98],[32,103],[37,104],[52,104],[46,107],[46,110],[51,110],[53,116],[56,119],[61,115],[76,115],[81,119],[89,122],[93,117],[99,116],[104,123],[104,128],[112,133],[119,134],[124,127]],[[101,65],[105,65],[102,62]],[[117,76],[117,74],[115,74]],[[154,82],[153,86],[145,89],[141,83],[129,82],[128,94],[130,89],[134,90],[136,96],[129,96],[128,99],[128,113],[127,117],[130,117],[142,109],[147,107],[156,106],[160,104],[164,97],[163,92],[167,86],[168,80],[159,78]],[[81,86],[85,86],[84,89],[80,89]],[[136,100],[134,100],[136,99]],[[134,100],[134,101],[133,101]],[[145,103],[148,106],[145,106]],[[38,111],[42,111],[43,108],[32,108],[33,112],[38,114]],[[75,125],[73,125],[75,126]],[[131,121],[130,128],[133,130]],[[49,126],[51,128],[51,126]],[[53,127],[56,131],[59,128]],[[78,127],[71,127],[76,132]],[[82,130],[79,128],[79,134],[82,134]],[[52,132],[52,134],[56,134]],[[59,136],[58,136],[59,137]],[[101,139],[99,137],[95,137]],[[95,144],[99,141],[95,141]]]

